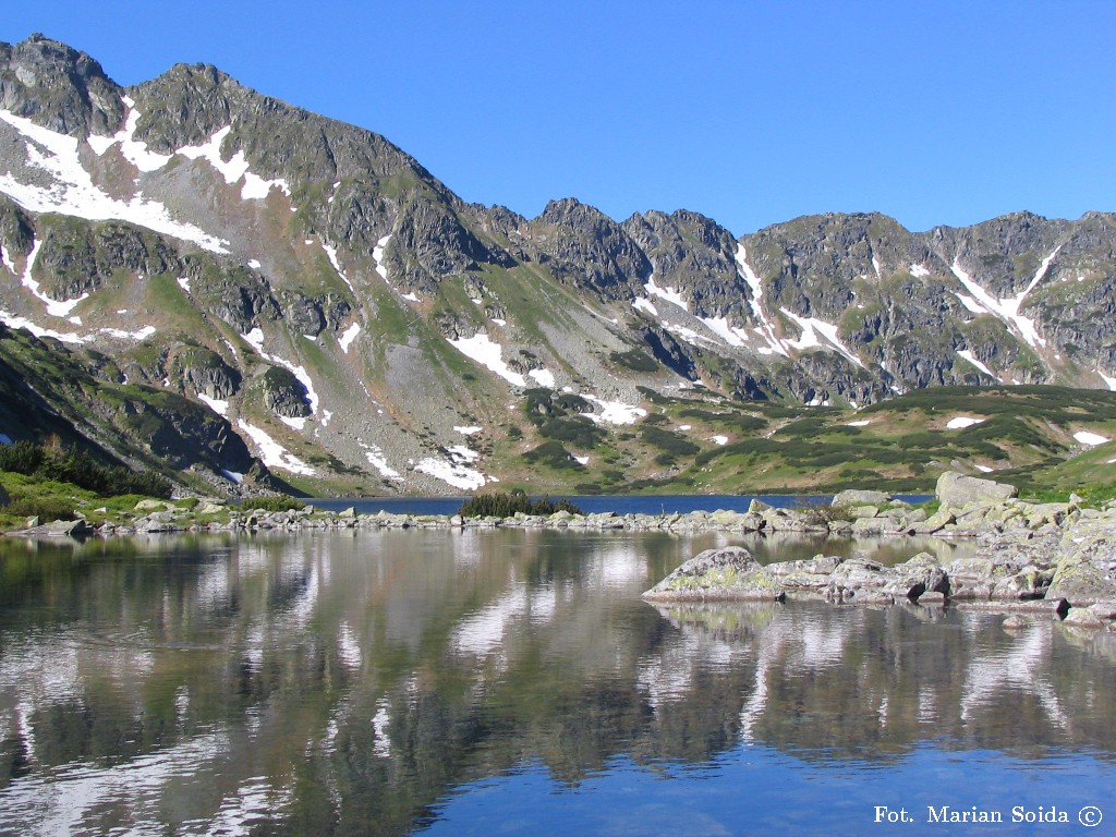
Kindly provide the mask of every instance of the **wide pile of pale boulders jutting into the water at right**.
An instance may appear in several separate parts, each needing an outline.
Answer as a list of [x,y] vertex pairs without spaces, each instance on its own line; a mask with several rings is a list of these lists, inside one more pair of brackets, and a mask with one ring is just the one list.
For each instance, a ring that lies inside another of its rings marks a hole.
[[910,507],[872,492],[838,494],[834,508],[854,518],[853,533],[971,537],[979,545],[975,557],[943,565],[921,552],[887,567],[819,555],[763,566],[743,547],[727,547],[690,559],[644,598],[781,602],[800,596],[840,605],[956,604],[1116,628],[1116,504],[1087,509],[1076,498],[1028,503],[1016,499],[1010,485],[956,473],[942,475],[936,497],[939,511],[921,521],[912,518]]

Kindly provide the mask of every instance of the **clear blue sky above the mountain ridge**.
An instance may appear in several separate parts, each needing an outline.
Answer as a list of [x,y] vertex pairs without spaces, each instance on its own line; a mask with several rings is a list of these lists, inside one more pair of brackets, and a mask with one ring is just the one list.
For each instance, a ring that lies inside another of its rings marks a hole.
[[11,2],[123,85],[209,62],[469,201],[912,230],[1116,210],[1116,1]]

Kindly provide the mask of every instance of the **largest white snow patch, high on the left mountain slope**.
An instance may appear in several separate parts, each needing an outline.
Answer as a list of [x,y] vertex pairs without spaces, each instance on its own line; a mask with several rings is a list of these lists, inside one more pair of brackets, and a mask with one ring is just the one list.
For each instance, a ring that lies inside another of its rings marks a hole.
[[125,221],[193,242],[210,252],[229,252],[228,241],[174,220],[166,206],[157,201],[143,195],[122,201],[103,192],[81,165],[78,140],[40,127],[8,110],[0,110],[0,121],[26,140],[27,164],[46,172],[52,180],[49,185],[36,185],[20,183],[10,172],[0,174],[0,192],[29,212],[57,212],[86,221]]

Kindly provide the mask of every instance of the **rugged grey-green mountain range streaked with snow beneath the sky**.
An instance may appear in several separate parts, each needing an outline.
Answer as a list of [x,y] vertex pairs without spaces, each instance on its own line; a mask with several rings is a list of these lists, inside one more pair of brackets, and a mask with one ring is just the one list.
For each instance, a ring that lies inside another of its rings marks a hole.
[[[30,333],[0,335],[0,364],[19,348],[93,383],[59,398],[31,374],[39,412],[0,433],[61,423],[221,490],[261,464],[371,493],[539,468],[558,488],[655,479],[676,464],[641,429],[680,392],[863,407],[939,385],[1116,388],[1114,219],[913,233],[827,214],[735,238],[574,199],[526,219],[213,67],[122,88],[32,36],[0,45],[0,320]],[[167,411],[156,450],[125,417],[170,396],[206,419]],[[233,436],[254,466],[214,458]]]

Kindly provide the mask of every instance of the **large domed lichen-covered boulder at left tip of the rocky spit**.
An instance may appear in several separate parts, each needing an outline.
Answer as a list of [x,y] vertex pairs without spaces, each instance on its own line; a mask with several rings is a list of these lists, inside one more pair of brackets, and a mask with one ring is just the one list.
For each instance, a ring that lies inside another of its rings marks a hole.
[[643,594],[653,602],[781,602],[779,579],[743,547],[706,549]]

